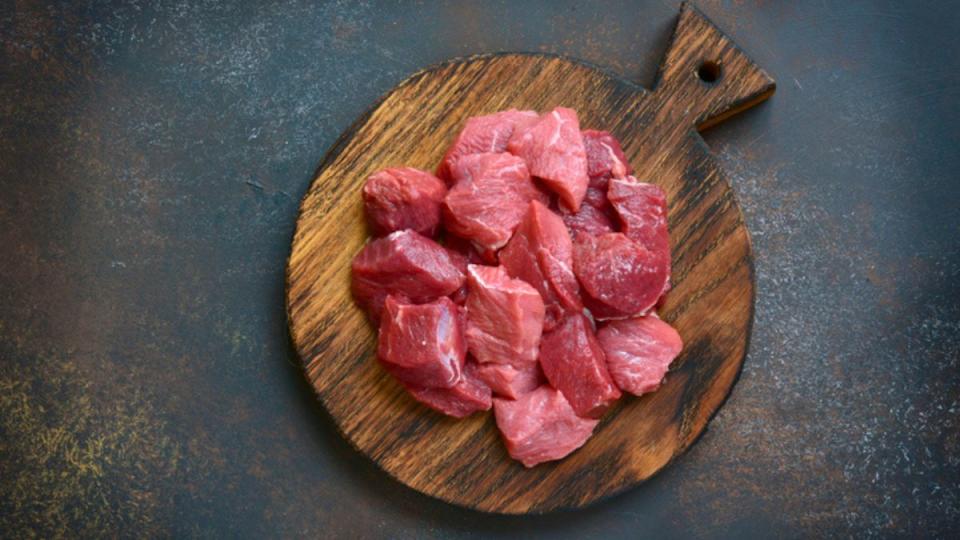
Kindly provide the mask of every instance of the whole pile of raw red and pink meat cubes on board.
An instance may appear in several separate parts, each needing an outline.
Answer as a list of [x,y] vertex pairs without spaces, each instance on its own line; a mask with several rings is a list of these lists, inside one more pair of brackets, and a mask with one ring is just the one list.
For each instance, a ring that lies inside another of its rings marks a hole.
[[470,118],[436,174],[370,176],[353,294],[384,369],[441,413],[492,407],[527,467],[582,446],[621,392],[656,390],[683,346],[654,311],[667,204],[631,172],[558,107]]

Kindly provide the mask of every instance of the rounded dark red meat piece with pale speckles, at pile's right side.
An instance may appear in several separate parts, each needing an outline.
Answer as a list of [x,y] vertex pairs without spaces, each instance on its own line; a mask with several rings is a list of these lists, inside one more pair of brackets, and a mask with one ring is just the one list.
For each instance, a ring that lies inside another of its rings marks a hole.
[[622,319],[644,315],[656,304],[670,277],[670,260],[623,233],[581,233],[574,243],[573,271],[594,318]]

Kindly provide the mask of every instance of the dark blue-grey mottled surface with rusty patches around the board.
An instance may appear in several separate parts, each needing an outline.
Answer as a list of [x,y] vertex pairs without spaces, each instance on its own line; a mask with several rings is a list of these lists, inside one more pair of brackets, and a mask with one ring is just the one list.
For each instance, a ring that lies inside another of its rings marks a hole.
[[825,4],[699,3],[779,82],[707,135],[757,264],[730,400],[639,489],[523,518],[336,435],[287,340],[297,200],[410,72],[543,50],[649,84],[676,3],[3,3],[0,531],[955,534],[960,15]]

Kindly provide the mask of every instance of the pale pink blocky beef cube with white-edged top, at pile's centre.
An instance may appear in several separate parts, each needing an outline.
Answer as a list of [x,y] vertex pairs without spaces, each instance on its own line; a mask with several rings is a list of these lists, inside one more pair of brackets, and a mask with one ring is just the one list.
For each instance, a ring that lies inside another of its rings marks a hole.
[[467,346],[478,362],[536,363],[543,331],[543,300],[502,266],[467,267]]

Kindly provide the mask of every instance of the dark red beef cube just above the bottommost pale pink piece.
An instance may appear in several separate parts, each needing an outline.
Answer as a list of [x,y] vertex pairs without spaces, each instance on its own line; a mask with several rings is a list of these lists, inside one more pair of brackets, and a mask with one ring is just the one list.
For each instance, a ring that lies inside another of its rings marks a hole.
[[579,416],[599,418],[620,398],[590,321],[571,313],[540,341],[540,366]]

